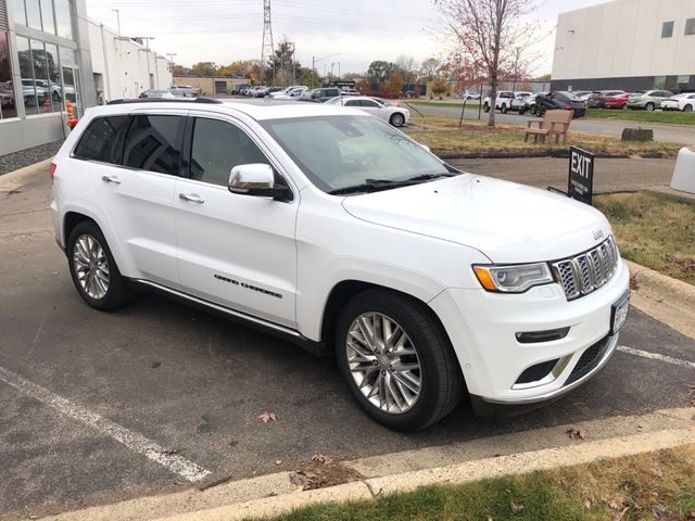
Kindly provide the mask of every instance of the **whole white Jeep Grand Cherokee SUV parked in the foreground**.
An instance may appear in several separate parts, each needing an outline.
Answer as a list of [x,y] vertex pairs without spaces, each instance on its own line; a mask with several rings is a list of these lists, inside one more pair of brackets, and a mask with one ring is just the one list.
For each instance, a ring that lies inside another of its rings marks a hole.
[[627,316],[599,212],[459,173],[358,110],[121,102],[88,111],[51,171],[90,306],[144,287],[334,353],[392,429],[466,394],[485,414],[554,399],[602,369]]

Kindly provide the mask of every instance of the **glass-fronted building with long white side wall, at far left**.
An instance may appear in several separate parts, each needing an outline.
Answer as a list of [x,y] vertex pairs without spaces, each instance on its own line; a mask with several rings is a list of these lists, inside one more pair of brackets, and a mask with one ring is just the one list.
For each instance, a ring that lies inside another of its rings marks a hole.
[[168,88],[160,56],[87,20],[86,0],[0,0],[0,155],[67,132],[88,106]]

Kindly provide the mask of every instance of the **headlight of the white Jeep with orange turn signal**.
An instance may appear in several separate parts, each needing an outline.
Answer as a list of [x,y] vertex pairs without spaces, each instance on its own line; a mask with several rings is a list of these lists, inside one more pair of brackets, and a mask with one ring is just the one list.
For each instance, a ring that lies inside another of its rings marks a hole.
[[523,293],[534,285],[555,281],[546,263],[517,266],[477,265],[473,266],[473,271],[485,290],[504,293]]

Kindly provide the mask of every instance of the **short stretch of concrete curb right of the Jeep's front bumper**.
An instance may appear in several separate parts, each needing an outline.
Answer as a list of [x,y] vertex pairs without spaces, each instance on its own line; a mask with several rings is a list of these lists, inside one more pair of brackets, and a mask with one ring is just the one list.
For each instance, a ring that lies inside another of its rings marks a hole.
[[624,260],[636,289],[631,304],[685,336],[695,340],[695,287]]

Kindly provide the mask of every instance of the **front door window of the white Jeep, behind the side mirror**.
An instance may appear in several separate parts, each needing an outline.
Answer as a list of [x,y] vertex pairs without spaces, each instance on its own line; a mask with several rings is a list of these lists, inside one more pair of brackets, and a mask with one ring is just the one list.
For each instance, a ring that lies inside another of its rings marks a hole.
[[193,127],[191,179],[227,186],[237,165],[268,160],[245,132],[227,122],[199,117]]

